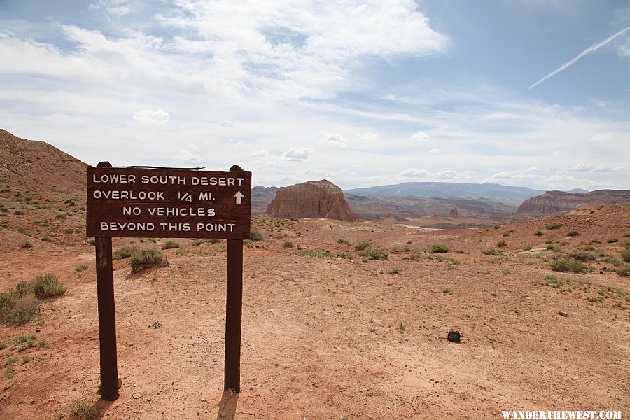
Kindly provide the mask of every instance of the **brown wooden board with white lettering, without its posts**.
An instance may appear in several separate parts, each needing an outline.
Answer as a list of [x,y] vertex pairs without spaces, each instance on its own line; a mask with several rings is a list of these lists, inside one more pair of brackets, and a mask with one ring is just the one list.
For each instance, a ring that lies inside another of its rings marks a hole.
[[251,172],[87,169],[87,235],[248,239]]

